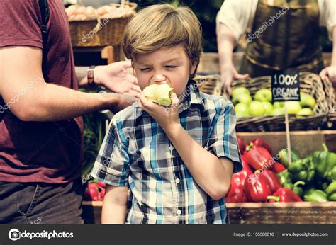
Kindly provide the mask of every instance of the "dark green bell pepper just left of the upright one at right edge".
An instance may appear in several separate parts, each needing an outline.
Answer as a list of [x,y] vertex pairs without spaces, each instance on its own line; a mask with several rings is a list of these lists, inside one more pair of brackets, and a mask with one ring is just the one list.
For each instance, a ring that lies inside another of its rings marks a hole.
[[311,157],[292,162],[288,171],[293,174],[293,181],[304,181],[309,183],[315,176],[315,166],[311,162]]

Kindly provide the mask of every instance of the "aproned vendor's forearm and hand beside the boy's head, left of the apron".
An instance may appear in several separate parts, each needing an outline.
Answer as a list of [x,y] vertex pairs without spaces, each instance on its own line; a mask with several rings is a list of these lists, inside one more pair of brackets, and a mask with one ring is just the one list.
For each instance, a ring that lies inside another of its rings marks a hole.
[[233,65],[233,49],[235,47],[235,35],[228,26],[219,23],[217,28],[217,43],[222,84],[231,94],[233,79],[247,79],[248,74],[239,74]]

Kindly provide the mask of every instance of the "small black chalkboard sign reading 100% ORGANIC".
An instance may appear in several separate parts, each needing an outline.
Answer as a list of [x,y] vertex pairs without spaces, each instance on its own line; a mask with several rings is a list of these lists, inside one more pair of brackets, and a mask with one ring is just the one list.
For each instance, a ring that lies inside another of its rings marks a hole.
[[271,76],[272,101],[300,101],[298,70],[286,69]]

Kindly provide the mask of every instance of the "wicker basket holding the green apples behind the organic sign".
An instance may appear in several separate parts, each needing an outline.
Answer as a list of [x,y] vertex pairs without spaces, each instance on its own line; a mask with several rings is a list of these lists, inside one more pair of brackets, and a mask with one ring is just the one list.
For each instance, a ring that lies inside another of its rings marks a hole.
[[[323,91],[323,84],[320,76],[308,72],[300,73],[301,92],[312,94],[316,100],[313,108],[314,115],[297,118],[296,115],[289,115],[290,130],[315,130],[322,125],[328,112],[327,99]],[[271,76],[262,76],[254,79],[233,81],[233,89],[237,86],[245,86],[249,89],[251,96],[262,88],[271,89]],[[267,115],[261,117],[246,117],[237,120],[237,131],[282,131],[286,129],[284,115]]]

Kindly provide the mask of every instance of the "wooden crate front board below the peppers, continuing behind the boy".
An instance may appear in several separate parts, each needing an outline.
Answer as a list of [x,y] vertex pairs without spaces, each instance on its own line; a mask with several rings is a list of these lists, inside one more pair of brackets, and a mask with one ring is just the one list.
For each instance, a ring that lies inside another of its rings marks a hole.
[[[84,202],[84,220],[101,223],[103,202]],[[231,224],[336,224],[336,202],[227,203]]]

